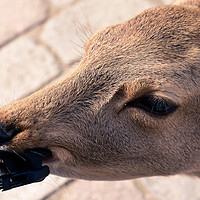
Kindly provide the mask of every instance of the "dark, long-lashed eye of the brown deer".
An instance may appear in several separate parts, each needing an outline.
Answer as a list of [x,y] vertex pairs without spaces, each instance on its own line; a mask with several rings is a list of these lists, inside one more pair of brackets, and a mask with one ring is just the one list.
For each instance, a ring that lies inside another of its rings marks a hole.
[[155,115],[168,115],[174,112],[177,105],[171,100],[159,96],[146,96],[126,104],[127,107],[140,108]]

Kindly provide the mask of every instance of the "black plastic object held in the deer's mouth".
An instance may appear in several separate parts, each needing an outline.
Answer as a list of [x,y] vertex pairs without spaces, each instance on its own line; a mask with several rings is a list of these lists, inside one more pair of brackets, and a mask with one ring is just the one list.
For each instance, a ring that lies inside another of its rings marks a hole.
[[51,156],[44,148],[27,149],[23,153],[0,150],[0,189],[3,191],[44,180],[50,173],[42,161]]

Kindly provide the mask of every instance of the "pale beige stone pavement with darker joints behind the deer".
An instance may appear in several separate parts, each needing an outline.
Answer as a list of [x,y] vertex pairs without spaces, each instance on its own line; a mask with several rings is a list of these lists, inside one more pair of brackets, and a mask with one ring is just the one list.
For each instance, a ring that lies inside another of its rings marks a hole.
[[[0,107],[76,69],[96,30],[170,0],[0,0]],[[0,200],[199,200],[200,180],[184,176],[119,182],[43,182],[0,192]]]

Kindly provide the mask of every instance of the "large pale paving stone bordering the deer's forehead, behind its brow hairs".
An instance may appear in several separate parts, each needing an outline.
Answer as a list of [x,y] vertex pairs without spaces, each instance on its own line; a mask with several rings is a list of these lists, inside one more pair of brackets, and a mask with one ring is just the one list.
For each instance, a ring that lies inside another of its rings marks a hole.
[[45,25],[41,39],[69,64],[80,59],[92,33],[153,6],[155,2],[148,0],[80,1],[53,17]]

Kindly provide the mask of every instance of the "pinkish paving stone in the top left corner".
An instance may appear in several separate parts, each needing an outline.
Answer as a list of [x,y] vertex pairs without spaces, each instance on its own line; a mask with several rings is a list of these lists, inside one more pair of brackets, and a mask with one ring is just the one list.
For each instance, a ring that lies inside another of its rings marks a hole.
[[0,1],[0,47],[47,17],[43,0]]

